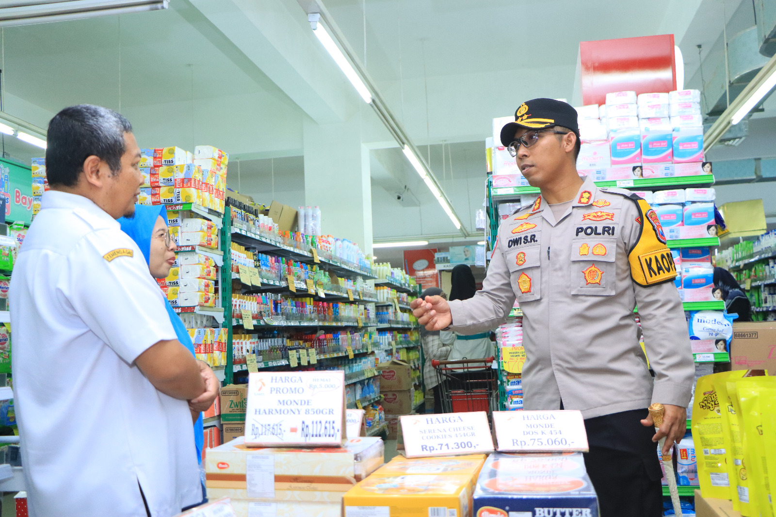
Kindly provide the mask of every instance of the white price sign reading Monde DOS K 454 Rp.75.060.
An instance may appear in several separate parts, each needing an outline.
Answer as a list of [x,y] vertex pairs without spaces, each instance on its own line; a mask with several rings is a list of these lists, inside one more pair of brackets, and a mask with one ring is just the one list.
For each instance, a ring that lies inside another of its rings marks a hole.
[[493,425],[502,453],[587,453],[580,411],[494,411]]

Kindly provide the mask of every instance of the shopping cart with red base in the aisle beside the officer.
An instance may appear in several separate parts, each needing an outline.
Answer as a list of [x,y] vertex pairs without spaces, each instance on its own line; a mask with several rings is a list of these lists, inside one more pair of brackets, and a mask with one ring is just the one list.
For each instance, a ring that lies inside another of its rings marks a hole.
[[487,411],[488,419],[498,404],[494,358],[431,361],[439,381],[442,412]]

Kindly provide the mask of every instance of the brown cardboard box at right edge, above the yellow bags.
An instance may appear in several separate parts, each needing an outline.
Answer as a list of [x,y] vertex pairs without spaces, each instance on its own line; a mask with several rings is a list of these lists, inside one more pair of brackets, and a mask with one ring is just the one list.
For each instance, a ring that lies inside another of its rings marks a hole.
[[768,370],[776,373],[776,321],[733,321],[730,342],[733,370]]

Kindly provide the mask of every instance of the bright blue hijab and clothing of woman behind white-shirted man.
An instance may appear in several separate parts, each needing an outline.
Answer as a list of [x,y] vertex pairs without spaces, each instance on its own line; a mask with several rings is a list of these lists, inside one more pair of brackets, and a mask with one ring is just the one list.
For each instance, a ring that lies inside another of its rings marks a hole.
[[[135,205],[134,217],[122,217],[119,220],[121,229],[137,243],[137,247],[140,248],[140,252],[143,252],[147,264],[149,264],[151,256],[151,238],[154,233],[154,224],[156,224],[159,216],[164,218],[165,221],[167,220],[167,209],[165,206]],[[170,317],[172,328],[175,329],[175,335],[178,336],[178,341],[194,355],[194,343],[192,343],[192,338],[189,336],[189,331],[186,330],[183,321],[178,317],[178,314],[175,314],[167,300],[165,300],[165,307],[167,307],[167,314]],[[194,443],[196,444],[197,461],[201,464],[202,449],[205,445],[201,413],[194,424]]]

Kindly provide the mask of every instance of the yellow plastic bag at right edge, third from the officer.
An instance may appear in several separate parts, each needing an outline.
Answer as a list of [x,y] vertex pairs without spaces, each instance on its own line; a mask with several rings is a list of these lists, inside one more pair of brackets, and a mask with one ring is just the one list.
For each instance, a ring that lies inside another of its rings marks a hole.
[[750,481],[750,499],[757,502],[761,517],[773,517],[767,458],[763,439],[762,402],[776,396],[776,377],[747,377],[736,380],[736,392],[743,419],[743,456]]

